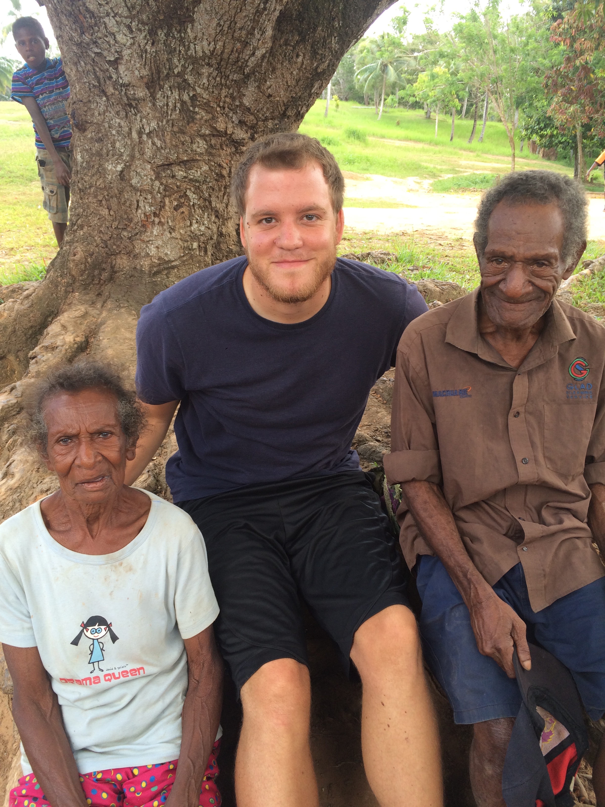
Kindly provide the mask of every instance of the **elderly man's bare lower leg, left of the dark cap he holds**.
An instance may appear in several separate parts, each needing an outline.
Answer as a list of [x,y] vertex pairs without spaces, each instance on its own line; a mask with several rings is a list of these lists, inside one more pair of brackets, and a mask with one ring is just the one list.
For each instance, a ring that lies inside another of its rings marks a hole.
[[502,771],[513,725],[514,717],[474,724],[470,784],[477,807],[506,807],[502,795]]

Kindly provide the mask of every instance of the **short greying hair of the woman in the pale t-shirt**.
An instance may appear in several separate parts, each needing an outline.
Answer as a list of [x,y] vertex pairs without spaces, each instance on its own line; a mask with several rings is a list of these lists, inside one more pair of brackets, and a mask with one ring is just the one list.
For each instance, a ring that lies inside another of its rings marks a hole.
[[127,391],[119,374],[100,362],[77,362],[53,370],[29,392],[26,408],[31,417],[31,438],[45,454],[48,445],[48,427],[44,419],[44,406],[54,395],[84,390],[106,390],[115,397],[119,423],[126,435],[127,445],[135,445],[144,429],[145,418],[134,392]]

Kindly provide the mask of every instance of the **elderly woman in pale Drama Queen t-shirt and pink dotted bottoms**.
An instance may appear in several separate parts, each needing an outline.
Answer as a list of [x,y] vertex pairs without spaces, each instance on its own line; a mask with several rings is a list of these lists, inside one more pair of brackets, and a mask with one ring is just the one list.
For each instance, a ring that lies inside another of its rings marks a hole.
[[202,535],[124,486],[143,420],[110,370],[57,371],[31,410],[60,489],[0,525],[23,742],[10,807],[217,807],[223,675]]

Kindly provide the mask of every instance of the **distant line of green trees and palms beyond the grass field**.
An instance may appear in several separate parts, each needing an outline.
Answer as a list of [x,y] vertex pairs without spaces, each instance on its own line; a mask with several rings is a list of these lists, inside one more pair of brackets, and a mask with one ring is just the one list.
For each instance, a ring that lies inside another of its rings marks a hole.
[[[556,148],[586,172],[605,148],[605,28],[602,2],[534,0],[532,8],[507,17],[500,0],[487,0],[456,15],[440,33],[430,16],[424,33],[407,35],[401,6],[392,31],[361,39],[340,62],[332,93],[340,100],[385,108],[404,106],[471,117],[482,141],[486,121],[503,123],[511,146],[511,169],[520,150]],[[519,142],[520,141],[520,142]]]

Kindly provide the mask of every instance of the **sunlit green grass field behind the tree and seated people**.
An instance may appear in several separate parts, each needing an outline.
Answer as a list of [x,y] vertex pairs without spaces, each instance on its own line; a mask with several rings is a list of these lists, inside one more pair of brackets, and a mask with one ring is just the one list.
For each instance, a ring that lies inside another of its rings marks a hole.
[[[510,165],[506,132],[500,123],[488,122],[486,136],[469,145],[472,121],[457,119],[453,143],[449,142],[450,119],[440,120],[435,140],[435,119],[422,111],[385,110],[378,121],[373,107],[340,102],[323,117],[325,102],[317,101],[301,125],[301,131],[316,136],[335,154],[341,169],[387,177],[418,177],[432,180],[440,193],[480,191],[489,187]],[[398,123],[399,122],[399,123]],[[480,123],[480,122],[479,122]],[[0,286],[44,276],[56,254],[52,225],[42,209],[42,191],[35,168],[34,136],[27,111],[15,102],[0,102]],[[587,161],[590,160],[587,157]],[[572,174],[565,161],[546,162],[524,148],[518,169],[549,168]],[[450,174],[448,178],[444,175]],[[596,186],[594,187],[596,190]],[[349,207],[405,207],[383,199],[346,199]],[[398,255],[393,270],[416,278],[458,282],[466,288],[478,283],[477,261],[468,242],[431,236],[377,236],[373,233],[347,236],[339,253],[388,249]],[[597,257],[603,245],[591,241],[586,257]],[[410,267],[415,267],[410,270]],[[413,274],[410,274],[410,271]],[[605,278],[582,283],[578,303],[605,303]]]

